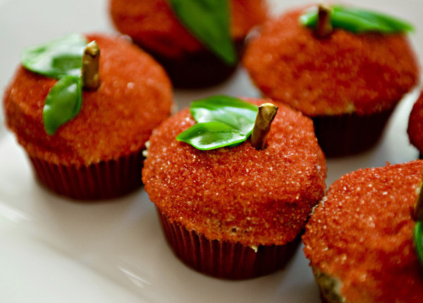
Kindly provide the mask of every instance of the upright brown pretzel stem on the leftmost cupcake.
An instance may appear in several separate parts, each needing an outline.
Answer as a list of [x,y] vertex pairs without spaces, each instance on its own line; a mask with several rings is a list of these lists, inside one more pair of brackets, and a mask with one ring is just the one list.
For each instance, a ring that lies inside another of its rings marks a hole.
[[100,49],[97,42],[87,44],[82,54],[82,85],[86,90],[97,90],[99,81]]

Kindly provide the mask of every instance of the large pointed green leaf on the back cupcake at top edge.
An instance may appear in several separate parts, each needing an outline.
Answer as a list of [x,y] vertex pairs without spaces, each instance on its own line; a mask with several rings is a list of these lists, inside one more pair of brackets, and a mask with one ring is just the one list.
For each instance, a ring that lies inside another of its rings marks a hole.
[[226,64],[236,64],[228,0],[170,0],[170,4],[180,22],[204,46]]

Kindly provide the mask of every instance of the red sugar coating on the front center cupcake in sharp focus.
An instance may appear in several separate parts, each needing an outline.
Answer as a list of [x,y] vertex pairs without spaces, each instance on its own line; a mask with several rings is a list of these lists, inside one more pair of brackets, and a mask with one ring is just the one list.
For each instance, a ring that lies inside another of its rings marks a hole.
[[264,150],[250,140],[197,150],[176,141],[195,124],[188,109],[166,120],[149,139],[142,170],[151,201],[171,223],[209,240],[247,246],[293,241],[324,195],[326,163],[312,121],[278,106]]

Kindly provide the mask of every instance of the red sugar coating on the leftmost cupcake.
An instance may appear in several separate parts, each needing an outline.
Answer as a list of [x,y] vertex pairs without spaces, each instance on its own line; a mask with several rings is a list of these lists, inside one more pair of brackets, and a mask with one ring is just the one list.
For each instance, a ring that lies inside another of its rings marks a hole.
[[22,66],[4,95],[6,124],[27,153],[55,164],[90,165],[142,148],[169,116],[171,83],[152,57],[122,38],[89,35],[101,50],[100,86],[83,91],[77,117],[47,135],[44,99],[56,80]]

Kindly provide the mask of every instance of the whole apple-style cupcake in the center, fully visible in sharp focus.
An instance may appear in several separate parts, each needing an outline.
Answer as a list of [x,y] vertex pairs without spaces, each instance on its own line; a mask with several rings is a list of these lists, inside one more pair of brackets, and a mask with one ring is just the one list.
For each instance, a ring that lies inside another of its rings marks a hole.
[[[221,98],[204,100],[200,109],[193,102],[191,112],[184,109],[153,131],[142,180],[179,259],[214,277],[247,279],[282,268],[292,256],[324,195],[326,163],[312,121],[286,105],[278,105],[262,150],[245,138],[215,149],[212,140],[194,140],[204,150],[176,140],[204,125],[195,124],[204,121],[197,113],[207,117],[206,108]],[[216,112],[219,121],[242,120]]]

